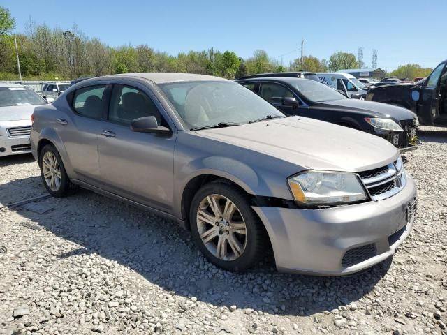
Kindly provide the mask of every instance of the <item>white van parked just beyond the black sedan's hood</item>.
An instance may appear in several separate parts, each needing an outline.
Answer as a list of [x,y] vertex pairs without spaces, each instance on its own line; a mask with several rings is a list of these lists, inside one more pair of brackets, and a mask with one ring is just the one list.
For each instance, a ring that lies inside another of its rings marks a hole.
[[320,81],[348,98],[365,99],[368,87],[349,73],[316,73]]

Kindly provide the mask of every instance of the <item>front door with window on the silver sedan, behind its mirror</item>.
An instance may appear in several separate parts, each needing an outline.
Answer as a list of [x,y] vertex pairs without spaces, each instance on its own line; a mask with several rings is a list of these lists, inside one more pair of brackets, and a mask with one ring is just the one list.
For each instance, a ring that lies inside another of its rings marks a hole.
[[[133,84],[134,85],[134,84]],[[139,117],[156,117],[171,129],[144,87],[114,84],[108,119],[98,132],[101,181],[106,191],[161,211],[173,203],[174,145],[177,133],[162,136],[135,133],[130,124]],[[146,92],[145,92],[146,91]]]

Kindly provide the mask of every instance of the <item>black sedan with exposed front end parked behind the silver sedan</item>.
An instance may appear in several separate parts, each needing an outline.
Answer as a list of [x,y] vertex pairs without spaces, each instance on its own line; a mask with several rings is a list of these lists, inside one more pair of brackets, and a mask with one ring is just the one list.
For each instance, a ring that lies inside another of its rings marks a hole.
[[286,115],[311,117],[372,133],[402,152],[417,148],[418,118],[402,107],[349,99],[321,82],[306,79],[256,77],[237,82]]

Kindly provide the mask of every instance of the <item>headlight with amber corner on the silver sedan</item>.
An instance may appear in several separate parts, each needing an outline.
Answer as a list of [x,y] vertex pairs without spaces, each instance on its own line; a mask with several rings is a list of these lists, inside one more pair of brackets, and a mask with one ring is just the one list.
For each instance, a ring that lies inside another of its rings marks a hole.
[[287,180],[296,202],[306,205],[348,204],[366,200],[356,174],[308,171]]

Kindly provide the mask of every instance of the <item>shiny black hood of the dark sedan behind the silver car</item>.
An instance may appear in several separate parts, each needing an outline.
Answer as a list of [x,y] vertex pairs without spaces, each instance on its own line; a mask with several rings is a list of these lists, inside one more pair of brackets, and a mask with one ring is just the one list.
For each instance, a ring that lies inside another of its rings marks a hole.
[[397,121],[415,119],[416,114],[404,107],[388,105],[386,103],[376,103],[374,101],[363,101],[358,99],[340,99],[318,103],[321,107],[328,107],[337,110],[348,110],[359,114],[369,114],[376,117],[387,117]]

